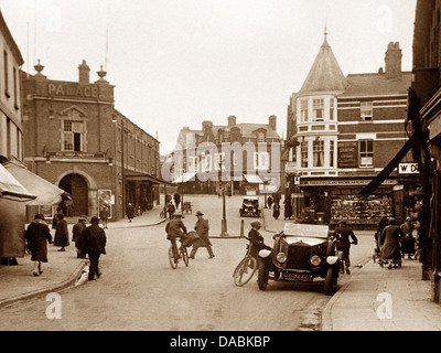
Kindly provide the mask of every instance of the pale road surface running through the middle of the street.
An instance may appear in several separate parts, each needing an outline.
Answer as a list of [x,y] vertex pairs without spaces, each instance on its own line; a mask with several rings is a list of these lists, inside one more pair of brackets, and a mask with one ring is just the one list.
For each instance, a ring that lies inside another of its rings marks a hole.
[[[194,201],[217,232],[220,221],[216,227],[212,220],[222,210],[220,200]],[[229,229],[238,233],[238,208],[229,203]],[[184,222],[191,227],[195,217],[189,215]],[[163,228],[109,229],[101,278],[63,291],[61,319],[49,320],[49,302],[35,298],[0,310],[0,330],[291,331],[310,322],[311,312],[320,311],[330,299],[322,293],[321,282],[270,282],[266,291],[258,290],[255,280],[236,287],[232,272],[245,254],[244,239],[215,238],[214,259],[201,248],[190,267],[172,270]],[[265,234],[268,244],[271,236]],[[359,238],[361,245],[353,248],[354,265],[372,255],[372,236]]]

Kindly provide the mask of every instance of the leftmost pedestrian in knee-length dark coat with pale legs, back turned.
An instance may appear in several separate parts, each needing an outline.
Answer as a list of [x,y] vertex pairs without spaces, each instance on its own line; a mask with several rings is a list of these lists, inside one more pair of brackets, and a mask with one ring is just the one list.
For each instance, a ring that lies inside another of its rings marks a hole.
[[51,231],[44,215],[39,213],[34,216],[34,221],[28,226],[24,238],[29,243],[31,249],[31,261],[34,261],[34,276],[43,274],[41,263],[47,263],[47,242],[52,243]]

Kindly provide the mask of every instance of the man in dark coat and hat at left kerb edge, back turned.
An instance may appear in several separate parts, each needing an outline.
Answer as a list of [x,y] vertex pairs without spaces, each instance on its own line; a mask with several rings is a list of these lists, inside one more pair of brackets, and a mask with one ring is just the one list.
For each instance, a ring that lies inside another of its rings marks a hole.
[[83,232],[83,254],[89,255],[89,280],[95,279],[95,274],[99,277],[101,274],[98,270],[99,256],[106,254],[106,233],[99,226],[99,218],[94,216],[90,218],[90,225]]

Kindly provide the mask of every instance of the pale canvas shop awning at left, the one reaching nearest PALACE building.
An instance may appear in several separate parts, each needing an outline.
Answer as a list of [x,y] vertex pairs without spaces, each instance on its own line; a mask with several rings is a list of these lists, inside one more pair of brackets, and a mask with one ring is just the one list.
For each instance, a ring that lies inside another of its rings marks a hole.
[[55,205],[62,201],[64,190],[34,174],[24,165],[12,162],[3,165],[25,189],[36,195],[35,200],[28,203],[29,205]]

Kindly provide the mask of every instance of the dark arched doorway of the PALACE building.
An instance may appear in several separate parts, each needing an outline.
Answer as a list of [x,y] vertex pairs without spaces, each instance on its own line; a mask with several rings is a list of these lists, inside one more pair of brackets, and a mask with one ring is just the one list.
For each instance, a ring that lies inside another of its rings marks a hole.
[[74,216],[88,214],[88,188],[87,182],[82,175],[67,174],[60,181],[58,188],[71,194],[74,202]]

